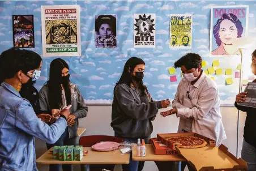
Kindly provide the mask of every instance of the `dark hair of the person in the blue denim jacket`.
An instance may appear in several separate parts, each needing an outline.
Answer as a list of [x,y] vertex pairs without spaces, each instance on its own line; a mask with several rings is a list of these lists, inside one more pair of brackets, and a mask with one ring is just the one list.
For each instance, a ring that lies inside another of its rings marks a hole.
[[[42,58],[30,50],[11,48],[0,55],[0,83],[13,78],[18,71],[27,74],[30,70],[38,69]],[[40,61],[40,62],[38,62]]]

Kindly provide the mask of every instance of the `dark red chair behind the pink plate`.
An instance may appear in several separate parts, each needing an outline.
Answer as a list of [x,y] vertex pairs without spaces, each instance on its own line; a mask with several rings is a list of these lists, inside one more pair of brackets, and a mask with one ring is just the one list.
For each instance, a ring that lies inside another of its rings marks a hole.
[[[123,138],[119,138],[116,136],[108,136],[108,135],[81,136],[79,140],[79,146],[92,147],[94,144],[97,144],[100,142],[122,143]],[[103,164],[103,165],[90,164],[89,170],[90,171],[101,171],[102,169],[114,170],[114,166],[115,166],[114,164]],[[82,166],[81,166],[81,170],[84,170],[82,169]]]

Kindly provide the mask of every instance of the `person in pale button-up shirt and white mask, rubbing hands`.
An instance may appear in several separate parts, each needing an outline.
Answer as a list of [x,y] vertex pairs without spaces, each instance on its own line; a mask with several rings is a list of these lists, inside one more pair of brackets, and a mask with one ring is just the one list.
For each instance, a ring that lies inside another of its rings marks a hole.
[[[227,138],[221,121],[219,92],[214,80],[204,74],[202,58],[187,53],[174,67],[181,68],[184,79],[178,85],[173,109],[160,114],[164,117],[176,114],[180,117],[178,132],[198,133],[216,140],[219,146]],[[182,166],[185,168],[186,164]]]

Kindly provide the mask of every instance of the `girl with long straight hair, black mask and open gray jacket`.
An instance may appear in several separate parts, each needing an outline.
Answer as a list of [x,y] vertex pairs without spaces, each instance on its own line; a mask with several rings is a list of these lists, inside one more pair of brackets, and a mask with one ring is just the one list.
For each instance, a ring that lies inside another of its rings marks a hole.
[[[69,65],[61,58],[54,59],[50,63],[49,80],[39,92],[41,110],[51,111],[52,117],[72,105],[66,111],[70,113],[70,116],[67,118],[65,132],[56,143],[46,144],[48,149],[53,146],[76,146],[78,119],[86,117],[88,112],[83,96],[78,87],[70,82],[69,77]],[[63,171],[72,170],[72,165],[62,165],[62,169]],[[61,165],[50,165],[50,171],[59,170],[61,170]]]

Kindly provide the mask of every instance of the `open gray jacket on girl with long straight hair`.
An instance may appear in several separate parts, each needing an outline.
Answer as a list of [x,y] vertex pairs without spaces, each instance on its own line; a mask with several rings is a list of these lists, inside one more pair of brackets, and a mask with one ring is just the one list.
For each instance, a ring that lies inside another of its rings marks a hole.
[[[77,136],[78,131],[78,119],[84,118],[87,116],[88,107],[86,106],[83,96],[81,95],[78,87],[74,84],[71,84],[71,109],[70,113],[74,114],[76,117],[75,124],[69,126],[69,138],[74,138]],[[49,104],[49,88],[47,84],[40,89],[39,92],[39,103],[40,109],[44,111],[51,111]]]

